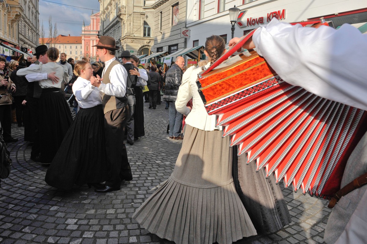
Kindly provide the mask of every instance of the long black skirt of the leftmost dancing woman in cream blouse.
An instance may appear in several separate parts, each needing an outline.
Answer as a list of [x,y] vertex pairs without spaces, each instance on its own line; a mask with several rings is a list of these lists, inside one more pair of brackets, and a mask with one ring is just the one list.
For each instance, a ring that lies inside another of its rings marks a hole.
[[70,108],[60,89],[43,89],[39,100],[41,163],[52,162],[72,122]]

